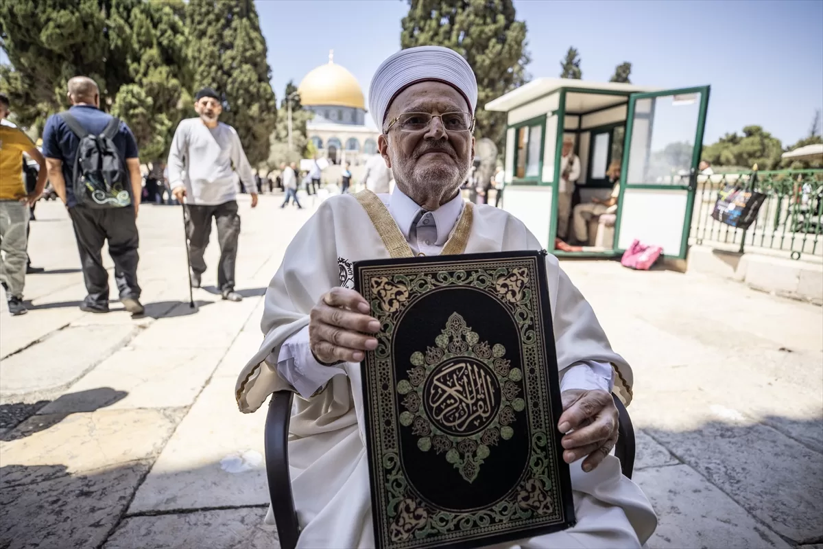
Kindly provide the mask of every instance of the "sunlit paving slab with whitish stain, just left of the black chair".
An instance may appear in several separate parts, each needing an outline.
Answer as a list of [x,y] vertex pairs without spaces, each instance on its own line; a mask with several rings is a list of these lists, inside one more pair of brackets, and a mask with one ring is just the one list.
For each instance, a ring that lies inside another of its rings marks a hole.
[[266,414],[241,414],[234,393],[234,377],[212,378],[157,458],[129,514],[268,503]]

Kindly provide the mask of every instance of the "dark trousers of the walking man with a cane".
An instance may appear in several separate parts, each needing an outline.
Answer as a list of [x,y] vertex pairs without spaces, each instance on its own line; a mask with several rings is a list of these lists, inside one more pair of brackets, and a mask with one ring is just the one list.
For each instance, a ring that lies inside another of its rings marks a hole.
[[220,244],[220,262],[217,263],[217,286],[220,291],[235,289],[235,263],[237,263],[237,241],[240,236],[240,216],[237,202],[231,200],[216,206],[187,205],[189,260],[192,271],[201,275],[206,272],[203,254],[206,252],[209,235],[212,234],[212,217],[217,223],[217,244]]

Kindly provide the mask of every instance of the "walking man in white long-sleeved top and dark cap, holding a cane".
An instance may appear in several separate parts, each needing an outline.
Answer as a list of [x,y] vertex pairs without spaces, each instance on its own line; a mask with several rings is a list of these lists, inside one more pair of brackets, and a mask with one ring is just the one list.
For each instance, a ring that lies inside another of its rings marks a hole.
[[169,181],[171,193],[188,208],[186,231],[192,264],[192,286],[200,287],[206,272],[203,254],[212,233],[212,217],[217,224],[220,262],[217,264],[217,286],[224,300],[240,301],[235,291],[235,263],[240,235],[237,212],[237,179],[251,194],[252,207],[257,207],[258,194],[249,161],[235,128],[218,122],[223,112],[221,100],[212,88],[203,88],[195,95],[197,119],[179,123],[169,151]]

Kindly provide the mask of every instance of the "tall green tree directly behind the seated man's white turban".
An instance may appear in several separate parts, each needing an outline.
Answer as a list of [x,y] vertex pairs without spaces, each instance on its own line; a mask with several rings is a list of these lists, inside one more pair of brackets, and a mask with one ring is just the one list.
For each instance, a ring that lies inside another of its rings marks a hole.
[[402,19],[403,49],[440,45],[461,54],[477,77],[475,137],[504,151],[506,115],[483,109],[528,81],[526,24],[515,19],[512,0],[408,0]]

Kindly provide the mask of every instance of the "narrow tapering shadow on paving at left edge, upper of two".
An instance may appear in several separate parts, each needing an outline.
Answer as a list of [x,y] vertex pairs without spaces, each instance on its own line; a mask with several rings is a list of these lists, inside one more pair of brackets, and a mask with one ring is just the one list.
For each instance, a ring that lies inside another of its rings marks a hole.
[[[66,393],[53,401],[0,404],[0,429],[7,429],[0,435],[0,440],[8,442],[26,438],[26,436],[57,425],[72,413],[95,412],[95,410],[123,400],[127,395],[125,391],[100,387],[77,391],[77,393]],[[47,406],[53,409],[54,413],[36,415]],[[63,412],[63,410],[71,410],[71,412]],[[0,545],[0,547],[4,546]]]

